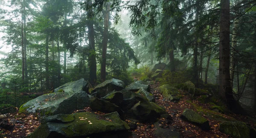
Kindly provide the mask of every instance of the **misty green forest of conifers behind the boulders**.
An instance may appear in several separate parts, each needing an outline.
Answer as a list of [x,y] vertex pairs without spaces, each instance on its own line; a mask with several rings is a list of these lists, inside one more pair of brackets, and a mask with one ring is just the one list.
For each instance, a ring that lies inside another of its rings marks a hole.
[[[0,110],[84,78],[217,86],[256,111],[255,0],[0,0]],[[239,111],[238,111],[239,110]]]

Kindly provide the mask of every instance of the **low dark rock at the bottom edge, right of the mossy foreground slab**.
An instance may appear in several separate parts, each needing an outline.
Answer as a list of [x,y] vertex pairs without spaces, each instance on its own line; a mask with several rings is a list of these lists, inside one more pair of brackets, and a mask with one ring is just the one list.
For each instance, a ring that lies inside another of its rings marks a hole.
[[180,138],[180,134],[174,127],[169,127],[169,129],[164,129],[163,124],[156,122],[154,124],[154,138]]

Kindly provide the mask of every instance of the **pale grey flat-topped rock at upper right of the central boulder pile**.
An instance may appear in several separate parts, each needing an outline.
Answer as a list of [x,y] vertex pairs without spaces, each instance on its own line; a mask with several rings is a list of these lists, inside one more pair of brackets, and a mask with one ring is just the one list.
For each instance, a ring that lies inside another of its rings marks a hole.
[[138,90],[140,90],[140,88],[143,88],[148,92],[150,91],[150,86],[147,85],[146,82],[142,82],[142,81],[133,82],[129,84],[125,89],[131,90],[133,92],[137,92]]

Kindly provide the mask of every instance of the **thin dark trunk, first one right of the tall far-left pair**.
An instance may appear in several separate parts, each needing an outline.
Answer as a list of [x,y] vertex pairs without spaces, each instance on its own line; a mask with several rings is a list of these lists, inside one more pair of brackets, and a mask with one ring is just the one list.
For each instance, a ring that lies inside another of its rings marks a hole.
[[49,90],[49,33],[46,34],[45,40],[45,86]]

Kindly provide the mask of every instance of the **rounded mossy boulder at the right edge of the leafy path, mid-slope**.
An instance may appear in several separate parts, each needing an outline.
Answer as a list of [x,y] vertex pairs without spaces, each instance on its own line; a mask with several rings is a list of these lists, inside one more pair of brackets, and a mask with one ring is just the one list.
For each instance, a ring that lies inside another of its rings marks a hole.
[[181,93],[179,90],[170,84],[165,84],[159,87],[159,92],[162,94],[162,96],[170,101],[179,101],[181,97]]

